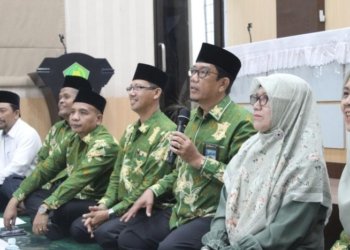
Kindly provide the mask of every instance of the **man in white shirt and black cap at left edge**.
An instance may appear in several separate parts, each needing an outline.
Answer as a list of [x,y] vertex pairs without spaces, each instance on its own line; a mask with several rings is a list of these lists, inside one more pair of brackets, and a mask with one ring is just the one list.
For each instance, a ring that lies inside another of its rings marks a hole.
[[37,131],[20,118],[20,98],[0,90],[0,211],[34,168],[41,147]]

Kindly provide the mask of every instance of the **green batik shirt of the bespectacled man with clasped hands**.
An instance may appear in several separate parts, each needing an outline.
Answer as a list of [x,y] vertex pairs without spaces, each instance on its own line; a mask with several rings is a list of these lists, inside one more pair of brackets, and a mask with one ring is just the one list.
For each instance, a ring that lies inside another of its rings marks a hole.
[[129,125],[120,140],[118,159],[105,196],[99,201],[112,207],[117,216],[171,167],[165,162],[169,150],[169,133],[176,125],[161,111],[155,112],[143,124]]

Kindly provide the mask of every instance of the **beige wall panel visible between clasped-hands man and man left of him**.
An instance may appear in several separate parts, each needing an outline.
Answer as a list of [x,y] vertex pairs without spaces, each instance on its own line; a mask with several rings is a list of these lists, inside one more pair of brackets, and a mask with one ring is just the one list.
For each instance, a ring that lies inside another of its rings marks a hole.
[[103,124],[118,140],[126,126],[138,119],[138,115],[130,108],[128,97],[107,98],[107,106],[103,113]]

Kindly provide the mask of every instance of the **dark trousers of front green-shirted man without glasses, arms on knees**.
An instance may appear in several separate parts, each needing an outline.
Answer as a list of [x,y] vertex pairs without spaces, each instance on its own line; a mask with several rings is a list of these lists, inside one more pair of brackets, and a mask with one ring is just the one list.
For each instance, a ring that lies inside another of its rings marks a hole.
[[[36,216],[39,206],[43,204],[43,201],[51,195],[54,189],[39,189],[30,194],[25,200],[26,211],[32,221]],[[67,236],[69,234],[70,226],[73,221],[82,216],[82,214],[89,212],[88,207],[95,204],[96,201],[94,200],[70,200],[66,204],[63,204],[61,207],[59,207],[57,210],[50,212],[50,220],[52,225],[49,226],[49,229],[51,228],[53,230],[55,228],[57,234],[62,233],[63,236]],[[50,234],[47,236],[49,237],[49,235]]]

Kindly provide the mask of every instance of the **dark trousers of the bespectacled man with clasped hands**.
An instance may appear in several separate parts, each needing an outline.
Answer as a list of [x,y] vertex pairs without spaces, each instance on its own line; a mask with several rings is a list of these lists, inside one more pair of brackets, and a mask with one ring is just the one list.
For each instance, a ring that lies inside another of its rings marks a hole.
[[135,218],[132,218],[128,223],[120,221],[120,217],[111,218],[94,230],[94,238],[90,237],[82,217],[76,219],[71,226],[70,234],[79,243],[97,242],[103,249],[118,249],[118,239],[120,233],[129,225],[137,223],[146,217],[145,211],[139,212]]

